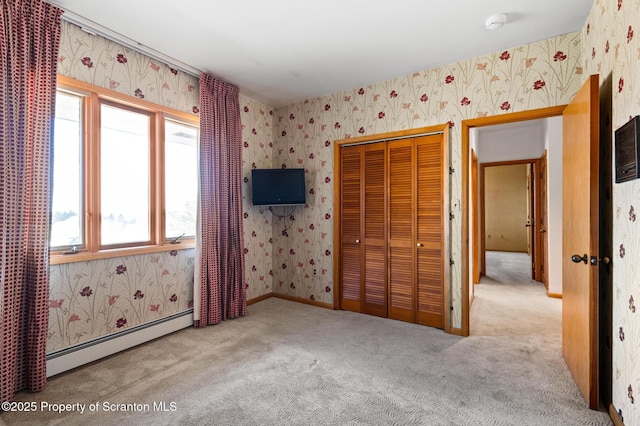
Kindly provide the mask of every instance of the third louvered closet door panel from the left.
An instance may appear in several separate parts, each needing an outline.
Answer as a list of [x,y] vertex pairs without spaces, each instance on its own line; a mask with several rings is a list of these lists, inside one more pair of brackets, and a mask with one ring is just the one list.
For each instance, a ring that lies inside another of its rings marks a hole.
[[389,143],[389,318],[415,322],[413,139]]

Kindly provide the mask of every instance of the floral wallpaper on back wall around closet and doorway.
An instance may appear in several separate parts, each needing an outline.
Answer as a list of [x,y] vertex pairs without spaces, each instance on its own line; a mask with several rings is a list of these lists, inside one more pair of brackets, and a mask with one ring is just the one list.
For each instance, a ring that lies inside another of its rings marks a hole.
[[[568,103],[582,80],[570,33],[274,110],[274,166],[304,167],[307,206],[274,223],[274,291],[333,303],[333,142],[449,123],[451,205],[460,208],[460,122]],[[461,224],[451,224],[452,326],[461,327]],[[315,271],[315,274],[314,274]]]

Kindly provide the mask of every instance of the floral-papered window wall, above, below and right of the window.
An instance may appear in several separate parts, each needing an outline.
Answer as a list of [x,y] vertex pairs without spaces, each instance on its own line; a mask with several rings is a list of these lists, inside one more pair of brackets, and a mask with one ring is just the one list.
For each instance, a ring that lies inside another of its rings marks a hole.
[[[198,113],[198,78],[63,21],[58,73],[116,92]],[[240,96],[245,172],[271,166],[271,113]],[[248,160],[246,160],[248,159]],[[271,293],[270,215],[245,198],[247,297]],[[267,212],[268,213],[268,212]],[[192,307],[195,250],[52,265],[47,352]]]

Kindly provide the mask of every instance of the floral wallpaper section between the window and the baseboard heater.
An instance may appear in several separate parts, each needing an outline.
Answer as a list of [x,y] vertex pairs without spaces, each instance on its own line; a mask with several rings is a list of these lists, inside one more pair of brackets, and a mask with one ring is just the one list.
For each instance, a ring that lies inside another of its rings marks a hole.
[[47,352],[193,307],[193,250],[51,267]]

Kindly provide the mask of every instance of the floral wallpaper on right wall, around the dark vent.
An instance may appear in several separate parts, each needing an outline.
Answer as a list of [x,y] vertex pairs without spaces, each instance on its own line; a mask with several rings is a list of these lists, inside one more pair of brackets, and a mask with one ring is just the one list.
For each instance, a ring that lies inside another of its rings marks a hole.
[[[613,129],[640,114],[640,1],[596,0],[582,31],[585,72],[612,81]],[[640,181],[613,185],[613,405],[640,424]]]

